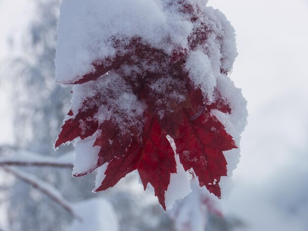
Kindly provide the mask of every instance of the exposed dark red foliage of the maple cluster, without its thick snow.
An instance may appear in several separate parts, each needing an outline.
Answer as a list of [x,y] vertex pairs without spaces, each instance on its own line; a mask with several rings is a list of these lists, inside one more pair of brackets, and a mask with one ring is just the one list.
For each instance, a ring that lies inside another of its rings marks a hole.
[[[183,3],[182,11],[193,22],[201,17],[207,20],[196,5]],[[200,49],[201,45],[207,43],[210,32],[201,23],[187,37],[189,49]],[[221,40],[219,35],[216,39]],[[104,99],[107,96],[97,91],[95,96],[84,99],[76,115],[69,111],[71,117],[64,122],[55,146],[77,137],[84,140],[95,136],[93,145],[100,147],[97,165],[76,176],[108,163],[106,176],[96,189],[101,191],[115,186],[126,174],[137,170],[144,188],[150,183],[158,201],[166,209],[165,191],[170,183],[170,174],[176,173],[174,151],[166,139],[169,135],[174,139],[185,171],[192,169],[198,176],[200,186],[206,186],[220,197],[220,177],[227,175],[227,162],[222,151],[236,148],[236,145],[211,111],[215,109],[231,113],[228,102],[219,95],[217,89],[215,101],[209,102],[201,89],[193,85],[184,65],[189,52],[187,49],[175,45],[170,55],[152,47],[140,37],[129,38],[129,43],[117,38],[112,41],[118,50],[116,55],[93,60],[94,70],[70,84],[101,81],[109,77],[106,73],[110,71],[119,74],[138,100],[147,105],[143,127],[140,129],[132,125],[123,131],[112,118],[98,121],[96,115],[100,107],[108,106],[108,102]],[[127,73],[127,66],[139,71]],[[222,74],[228,71],[221,69]],[[154,82],[166,79],[170,81],[164,85],[163,92],[157,87],[153,88]],[[180,102],[178,95],[182,96]]]

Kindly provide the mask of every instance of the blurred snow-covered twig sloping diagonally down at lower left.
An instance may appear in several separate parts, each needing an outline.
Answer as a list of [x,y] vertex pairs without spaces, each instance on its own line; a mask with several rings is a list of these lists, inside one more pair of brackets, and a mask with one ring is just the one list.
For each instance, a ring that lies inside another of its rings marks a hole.
[[36,188],[37,190],[51,198],[54,202],[62,206],[62,208],[64,208],[75,219],[77,219],[78,221],[82,221],[82,218],[74,211],[72,204],[68,202],[65,198],[63,198],[61,192],[53,185],[42,181],[35,175],[16,170],[12,167],[1,166],[1,168],[7,173],[11,173],[19,179],[23,180],[24,182],[30,184],[32,187]]

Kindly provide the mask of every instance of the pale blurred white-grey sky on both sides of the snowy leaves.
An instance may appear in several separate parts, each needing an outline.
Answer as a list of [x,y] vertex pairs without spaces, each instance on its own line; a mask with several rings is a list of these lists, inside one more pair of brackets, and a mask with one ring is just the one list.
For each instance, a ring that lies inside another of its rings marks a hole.
[[[226,213],[249,231],[308,230],[308,1],[209,0],[237,32],[232,80],[242,88],[248,125]],[[0,0],[0,59],[33,13],[31,0]],[[1,72],[0,69],[0,74]],[[0,86],[0,143],[12,142],[11,111]]]

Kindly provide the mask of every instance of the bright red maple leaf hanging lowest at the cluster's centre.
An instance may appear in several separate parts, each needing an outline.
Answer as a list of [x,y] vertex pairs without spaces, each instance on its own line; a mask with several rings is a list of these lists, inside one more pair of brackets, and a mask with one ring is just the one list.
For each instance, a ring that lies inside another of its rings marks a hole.
[[132,141],[122,157],[111,160],[105,172],[106,177],[96,191],[113,187],[127,173],[138,170],[144,188],[151,183],[155,196],[166,209],[165,191],[170,183],[170,173],[176,173],[174,151],[157,118],[147,119],[143,134],[142,144]]

